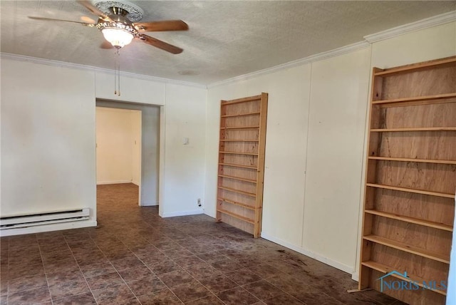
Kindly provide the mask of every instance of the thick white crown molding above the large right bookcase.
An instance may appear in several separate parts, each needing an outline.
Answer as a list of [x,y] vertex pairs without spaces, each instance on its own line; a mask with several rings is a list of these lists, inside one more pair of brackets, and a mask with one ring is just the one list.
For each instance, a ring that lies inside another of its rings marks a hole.
[[415,21],[410,24],[403,24],[402,26],[396,26],[395,28],[392,28],[392,29],[388,29],[385,31],[371,34],[371,35],[366,35],[363,38],[366,41],[368,41],[368,43],[374,43],[377,41],[383,41],[388,38],[393,38],[395,36],[400,36],[400,35],[403,35],[405,33],[409,33],[412,31],[427,29],[432,26],[440,26],[441,24],[447,24],[452,21],[456,21],[456,11],[449,11],[445,14],[432,16],[430,18]]

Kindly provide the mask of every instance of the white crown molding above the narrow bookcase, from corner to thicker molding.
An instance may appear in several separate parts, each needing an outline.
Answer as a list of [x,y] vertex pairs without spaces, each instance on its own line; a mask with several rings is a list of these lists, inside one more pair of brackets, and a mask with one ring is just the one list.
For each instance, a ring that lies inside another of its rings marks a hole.
[[227,85],[228,83],[235,83],[237,81],[244,81],[244,80],[247,80],[249,78],[262,76],[264,74],[269,74],[269,73],[273,73],[273,72],[276,72],[276,71],[281,71],[281,70],[284,70],[284,69],[287,69],[287,68],[294,68],[296,66],[302,66],[302,65],[305,65],[307,63],[314,63],[315,61],[322,61],[323,59],[326,59],[326,58],[331,58],[331,57],[339,56],[339,55],[342,55],[342,54],[345,54],[345,53],[350,53],[350,52],[359,50],[361,48],[367,48],[368,46],[370,46],[370,44],[367,41],[360,41],[360,42],[357,42],[357,43],[352,43],[352,44],[349,44],[348,46],[342,46],[341,48],[335,48],[335,49],[333,49],[331,51],[318,53],[318,54],[315,54],[315,55],[311,55],[311,56],[308,56],[308,57],[305,57],[305,58],[298,59],[296,61],[289,61],[288,63],[282,63],[281,65],[274,66],[274,67],[271,67],[271,68],[266,68],[266,69],[255,71],[255,72],[252,72],[252,73],[247,73],[247,74],[244,74],[242,76],[236,76],[234,78],[228,78],[228,79],[226,79],[224,81],[217,81],[215,83],[210,83],[209,85],[207,85],[207,88],[214,88],[214,87],[218,87],[218,86],[222,86],[222,85]]

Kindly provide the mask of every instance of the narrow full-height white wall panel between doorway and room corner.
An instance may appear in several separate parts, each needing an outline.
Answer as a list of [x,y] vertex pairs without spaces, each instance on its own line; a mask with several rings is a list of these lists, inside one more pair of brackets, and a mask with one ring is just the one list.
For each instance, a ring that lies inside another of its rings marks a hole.
[[[200,198],[204,204],[206,90],[182,88],[167,84],[166,139],[163,143],[165,165],[162,171],[163,192],[160,202],[167,202],[160,214],[163,217],[181,214],[201,214]],[[189,144],[183,144],[189,138]],[[161,170],[161,169],[160,169]]]

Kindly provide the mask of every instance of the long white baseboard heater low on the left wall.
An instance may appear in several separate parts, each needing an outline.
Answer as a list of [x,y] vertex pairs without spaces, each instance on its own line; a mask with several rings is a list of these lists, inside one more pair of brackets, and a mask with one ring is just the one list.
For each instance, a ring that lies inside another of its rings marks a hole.
[[60,222],[76,222],[86,220],[90,216],[88,208],[79,210],[66,210],[60,212],[48,212],[23,216],[1,217],[0,229],[16,229],[24,227],[40,226],[43,224],[57,224]]

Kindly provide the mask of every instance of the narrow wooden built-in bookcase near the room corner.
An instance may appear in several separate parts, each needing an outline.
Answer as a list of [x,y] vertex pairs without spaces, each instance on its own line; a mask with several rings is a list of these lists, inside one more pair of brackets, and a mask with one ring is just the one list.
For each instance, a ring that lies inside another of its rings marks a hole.
[[217,221],[259,237],[268,95],[222,100]]

